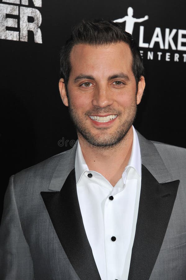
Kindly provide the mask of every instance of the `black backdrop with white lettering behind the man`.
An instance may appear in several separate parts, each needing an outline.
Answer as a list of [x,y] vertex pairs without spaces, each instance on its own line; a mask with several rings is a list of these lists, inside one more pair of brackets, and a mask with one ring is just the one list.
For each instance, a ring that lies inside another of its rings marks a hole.
[[[14,7],[6,15],[9,5]],[[24,18],[22,7],[24,13],[29,9]],[[70,148],[70,140],[77,138],[58,92],[59,52],[71,26],[82,18],[116,20],[127,15],[128,7],[134,9],[135,18],[149,16],[136,22],[133,30],[138,43],[141,32],[139,48],[146,68],[146,90],[134,126],[148,139],[186,147],[185,1],[1,0],[1,202],[10,175]],[[13,18],[14,23],[5,17]],[[34,42],[36,34],[31,30],[27,39],[21,35],[31,29],[25,27],[27,21],[38,23],[42,43]],[[125,28],[125,22],[120,24]],[[18,34],[16,40],[9,40],[7,30],[17,32],[13,33]],[[166,32],[172,39],[165,40]],[[143,47],[144,43],[149,46]]]

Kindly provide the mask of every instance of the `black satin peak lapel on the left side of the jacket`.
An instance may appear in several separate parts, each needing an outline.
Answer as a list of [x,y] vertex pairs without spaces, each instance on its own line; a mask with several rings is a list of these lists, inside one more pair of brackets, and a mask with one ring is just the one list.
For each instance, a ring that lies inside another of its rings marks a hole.
[[54,229],[70,263],[81,280],[101,280],[79,208],[75,169],[60,192],[41,192]]

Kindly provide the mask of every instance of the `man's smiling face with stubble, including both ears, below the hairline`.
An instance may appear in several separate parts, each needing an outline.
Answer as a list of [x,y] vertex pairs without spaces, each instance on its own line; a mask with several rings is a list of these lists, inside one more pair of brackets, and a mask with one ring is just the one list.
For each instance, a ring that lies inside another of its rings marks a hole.
[[144,89],[142,77],[136,93],[129,46],[78,44],[70,62],[68,99],[62,82],[59,87],[79,140],[93,146],[118,144],[131,129]]

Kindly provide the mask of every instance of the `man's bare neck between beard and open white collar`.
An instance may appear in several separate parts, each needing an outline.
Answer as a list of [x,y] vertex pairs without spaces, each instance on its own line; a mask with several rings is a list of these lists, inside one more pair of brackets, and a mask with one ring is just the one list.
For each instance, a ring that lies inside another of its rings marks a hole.
[[78,138],[89,170],[102,174],[112,186],[115,186],[131,156],[133,144],[132,127],[122,141],[114,147],[90,146],[81,135],[78,135]]

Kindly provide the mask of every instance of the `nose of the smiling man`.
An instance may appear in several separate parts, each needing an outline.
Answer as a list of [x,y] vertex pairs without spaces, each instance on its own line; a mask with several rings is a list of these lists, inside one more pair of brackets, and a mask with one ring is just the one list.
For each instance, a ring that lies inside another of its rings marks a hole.
[[99,107],[99,108],[105,108],[107,106],[112,105],[113,98],[111,94],[109,93],[109,89],[107,87],[101,87],[98,88],[96,91],[94,91],[93,99],[92,99],[92,105]]

